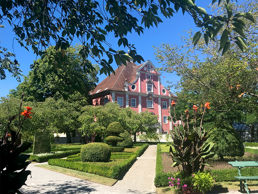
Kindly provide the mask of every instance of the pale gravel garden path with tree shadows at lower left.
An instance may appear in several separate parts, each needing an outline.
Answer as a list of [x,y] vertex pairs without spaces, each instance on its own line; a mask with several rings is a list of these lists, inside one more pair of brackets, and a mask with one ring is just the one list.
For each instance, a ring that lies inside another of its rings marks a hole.
[[27,170],[32,171],[32,178],[28,177],[27,186],[21,187],[20,191],[30,194],[152,194],[155,193],[156,152],[157,145],[150,145],[137,157],[125,176],[112,187],[35,167],[38,164],[30,164]]

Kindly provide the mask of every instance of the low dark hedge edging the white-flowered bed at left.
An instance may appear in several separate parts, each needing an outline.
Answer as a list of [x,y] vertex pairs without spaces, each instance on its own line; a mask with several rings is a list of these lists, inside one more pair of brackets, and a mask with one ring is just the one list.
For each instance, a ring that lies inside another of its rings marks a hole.
[[30,155],[30,158],[28,160],[36,160],[37,162],[42,163],[42,162],[47,162],[49,159],[68,157],[69,155],[77,154],[80,152],[81,152],[81,149],[74,149],[71,151],[52,153],[52,154],[43,155],[43,156]]

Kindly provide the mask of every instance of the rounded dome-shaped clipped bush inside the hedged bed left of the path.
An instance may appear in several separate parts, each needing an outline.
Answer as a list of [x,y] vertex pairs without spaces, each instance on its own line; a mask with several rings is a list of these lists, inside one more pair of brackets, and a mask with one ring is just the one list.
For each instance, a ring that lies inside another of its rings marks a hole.
[[82,162],[107,162],[110,156],[111,148],[106,143],[94,142],[81,147]]

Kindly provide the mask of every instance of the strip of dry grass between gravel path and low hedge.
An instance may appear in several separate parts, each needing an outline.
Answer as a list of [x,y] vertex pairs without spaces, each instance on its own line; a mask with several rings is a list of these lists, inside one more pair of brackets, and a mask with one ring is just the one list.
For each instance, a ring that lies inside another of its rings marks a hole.
[[107,178],[107,177],[104,177],[104,176],[99,176],[99,175],[91,174],[91,173],[87,173],[87,172],[80,172],[80,171],[77,171],[77,170],[71,170],[71,169],[62,168],[62,167],[59,167],[59,166],[50,166],[48,164],[41,164],[41,165],[36,165],[36,166],[40,167],[40,168],[47,169],[47,170],[52,170],[54,172],[59,172],[59,173],[62,173],[62,174],[66,174],[68,176],[73,176],[73,177],[76,177],[76,178],[81,178],[81,179],[84,179],[84,180],[93,181],[95,183],[100,183],[100,184],[103,184],[103,185],[112,186],[112,185],[114,185],[114,183],[116,183],[116,179],[113,179],[113,178]]

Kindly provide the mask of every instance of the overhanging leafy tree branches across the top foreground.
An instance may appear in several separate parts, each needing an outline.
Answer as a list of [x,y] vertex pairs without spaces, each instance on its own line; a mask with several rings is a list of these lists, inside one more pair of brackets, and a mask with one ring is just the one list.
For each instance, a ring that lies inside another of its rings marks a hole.
[[[96,0],[1,0],[0,25],[3,20],[7,20],[22,47],[29,50],[30,46],[36,55],[50,66],[52,65],[49,71],[54,72],[59,79],[68,80],[79,92],[85,93],[76,87],[72,77],[66,78],[66,74],[62,73],[65,71],[61,71],[67,66],[70,56],[69,47],[75,37],[83,45],[79,51],[83,58],[83,67],[86,70],[94,68],[87,61],[87,58],[91,57],[103,67],[100,73],[106,75],[114,72],[110,66],[114,59],[118,66],[126,64],[130,59],[138,63],[143,61],[126,36],[128,32],[133,31],[139,35],[143,33],[144,28],[141,24],[144,24],[145,28],[153,24],[158,26],[158,23],[162,22],[158,11],[161,11],[161,15],[166,18],[173,17],[173,13],[179,9],[183,14],[189,14],[196,26],[201,28],[193,37],[194,45],[198,43],[202,34],[207,42],[213,40],[225,26],[233,29],[234,33],[224,34],[220,43],[223,51],[229,49],[230,43],[233,42],[242,49],[246,46],[246,37],[243,34],[245,24],[240,19],[244,17],[252,22],[255,20],[247,10],[236,14],[229,1],[218,1],[227,10],[223,15],[217,13],[210,15],[204,8],[198,7],[194,0],[105,0],[101,4]],[[212,4],[215,2],[216,0],[211,1]],[[118,46],[127,47],[126,52],[114,50],[106,41],[110,33],[114,33],[118,38]],[[53,52],[46,52],[51,45],[54,45]],[[32,64],[32,68],[34,79],[45,83],[45,74],[40,74],[37,62]],[[5,67],[1,66],[1,69],[1,73],[4,74]],[[62,91],[62,84],[57,82],[56,86],[63,97],[67,98]]]

